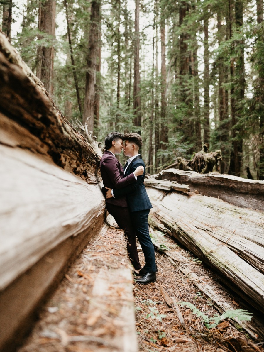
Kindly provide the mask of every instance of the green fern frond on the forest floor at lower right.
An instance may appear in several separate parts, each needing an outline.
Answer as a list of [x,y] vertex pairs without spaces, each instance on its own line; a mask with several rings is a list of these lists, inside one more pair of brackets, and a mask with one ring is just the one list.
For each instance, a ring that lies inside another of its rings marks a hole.
[[181,306],[189,307],[193,311],[193,314],[196,314],[198,318],[202,318],[203,321],[205,322],[205,326],[208,329],[215,328],[216,326],[218,326],[220,321],[224,319],[238,318],[239,320],[251,320],[252,318],[252,313],[249,313],[244,309],[232,309],[232,310],[230,309],[230,310],[226,310],[226,312],[224,312],[221,315],[216,314],[211,318],[208,318],[208,315],[201,312],[201,310],[196,308],[194,304],[191,304],[189,302],[179,302],[179,304],[181,304]]

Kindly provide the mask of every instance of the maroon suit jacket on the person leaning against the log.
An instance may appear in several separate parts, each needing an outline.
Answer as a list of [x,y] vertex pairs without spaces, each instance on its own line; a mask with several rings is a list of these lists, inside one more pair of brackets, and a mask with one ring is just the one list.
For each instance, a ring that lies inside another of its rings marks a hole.
[[[106,150],[101,158],[100,171],[103,180],[103,186],[108,188],[120,189],[135,183],[137,180],[134,174],[130,174],[124,178],[124,170],[117,158],[108,150]],[[127,207],[126,195],[118,198],[106,199],[106,202],[117,205],[119,207]]]

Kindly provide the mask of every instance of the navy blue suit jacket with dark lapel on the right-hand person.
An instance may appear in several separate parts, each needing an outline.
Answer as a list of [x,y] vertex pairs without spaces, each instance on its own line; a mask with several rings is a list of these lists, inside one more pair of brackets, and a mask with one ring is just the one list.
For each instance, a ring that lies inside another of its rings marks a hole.
[[[126,168],[126,165],[124,169]],[[136,168],[140,165],[144,166],[144,174],[141,176],[137,176],[136,183],[130,184],[126,187],[122,187],[120,189],[113,189],[113,194],[116,199],[126,195],[128,207],[130,208],[131,212],[138,212],[139,210],[147,210],[152,208],[149,196],[147,195],[146,188],[144,185],[146,168],[140,154],[136,156],[136,158],[133,159],[133,161],[129,164],[128,168],[125,171],[125,177],[132,174],[132,172],[134,172]]]

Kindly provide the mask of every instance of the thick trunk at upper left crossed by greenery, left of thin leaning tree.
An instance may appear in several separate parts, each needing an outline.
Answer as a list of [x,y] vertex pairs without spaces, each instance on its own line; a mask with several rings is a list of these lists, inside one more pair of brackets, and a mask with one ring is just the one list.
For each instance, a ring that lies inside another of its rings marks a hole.
[[[51,37],[55,37],[55,16],[56,1],[46,0],[39,1],[38,29]],[[39,35],[39,40],[43,39]],[[43,82],[44,87],[50,95],[53,94],[53,77],[54,77],[54,47],[52,44],[38,47],[38,64],[37,77]]]

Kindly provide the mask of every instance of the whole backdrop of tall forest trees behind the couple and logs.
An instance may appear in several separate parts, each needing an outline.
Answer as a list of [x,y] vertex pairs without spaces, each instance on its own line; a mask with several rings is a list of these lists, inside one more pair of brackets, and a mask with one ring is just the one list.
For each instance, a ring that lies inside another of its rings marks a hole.
[[89,140],[139,132],[150,173],[208,144],[221,173],[264,180],[263,0],[1,0],[0,15]]

